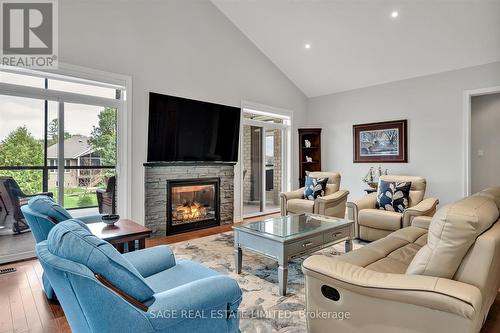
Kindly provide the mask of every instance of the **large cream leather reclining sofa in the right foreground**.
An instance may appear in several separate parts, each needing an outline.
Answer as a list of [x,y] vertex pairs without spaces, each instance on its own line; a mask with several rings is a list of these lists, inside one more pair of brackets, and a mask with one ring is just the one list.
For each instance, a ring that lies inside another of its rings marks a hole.
[[308,331],[479,332],[500,287],[499,207],[490,188],[348,254],[307,258]]

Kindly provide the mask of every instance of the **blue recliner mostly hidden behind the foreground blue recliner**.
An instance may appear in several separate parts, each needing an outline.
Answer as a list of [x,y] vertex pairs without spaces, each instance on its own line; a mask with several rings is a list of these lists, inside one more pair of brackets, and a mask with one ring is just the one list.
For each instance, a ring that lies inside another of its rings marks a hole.
[[[66,209],[45,195],[38,195],[31,198],[27,205],[21,207],[21,211],[37,243],[46,240],[50,230],[57,223],[73,218]],[[80,217],[79,220],[84,223],[101,222],[101,215]],[[53,299],[54,291],[49,281],[47,281],[45,274],[42,276],[42,281],[47,298]]]

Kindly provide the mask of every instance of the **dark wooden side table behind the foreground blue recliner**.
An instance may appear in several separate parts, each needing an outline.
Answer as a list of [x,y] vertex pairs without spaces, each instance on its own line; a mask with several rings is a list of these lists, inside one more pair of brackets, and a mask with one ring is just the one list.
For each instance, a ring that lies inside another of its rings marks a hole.
[[[98,222],[87,226],[94,235],[111,243],[120,253],[125,251],[125,244],[129,252],[144,249],[146,238],[151,235],[150,229],[127,219],[119,220],[114,225]],[[138,246],[135,241],[138,241]]]

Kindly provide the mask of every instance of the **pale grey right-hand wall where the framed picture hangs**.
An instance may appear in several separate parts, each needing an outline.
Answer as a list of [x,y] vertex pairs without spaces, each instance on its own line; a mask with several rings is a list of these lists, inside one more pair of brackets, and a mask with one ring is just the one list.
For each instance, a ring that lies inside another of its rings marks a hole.
[[500,62],[352,90],[308,101],[304,123],[323,128],[323,169],[339,171],[349,199],[376,163],[353,163],[352,125],[408,119],[409,163],[382,164],[392,174],[427,178],[442,204],[463,196],[463,92],[500,85]]

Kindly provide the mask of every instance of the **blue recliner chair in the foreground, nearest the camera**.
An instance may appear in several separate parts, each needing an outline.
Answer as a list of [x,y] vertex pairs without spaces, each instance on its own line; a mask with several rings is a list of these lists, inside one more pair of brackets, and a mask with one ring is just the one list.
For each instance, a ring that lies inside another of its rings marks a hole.
[[236,281],[168,246],[120,254],[72,219],[36,246],[73,332],[238,332]]

